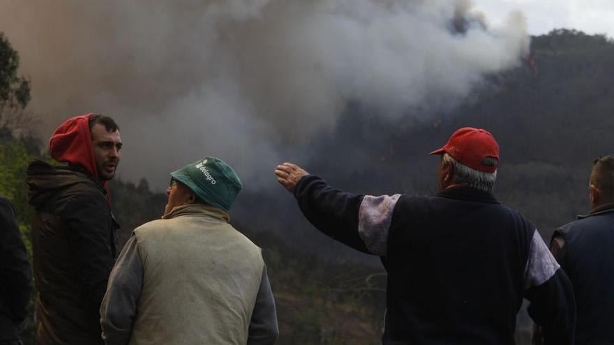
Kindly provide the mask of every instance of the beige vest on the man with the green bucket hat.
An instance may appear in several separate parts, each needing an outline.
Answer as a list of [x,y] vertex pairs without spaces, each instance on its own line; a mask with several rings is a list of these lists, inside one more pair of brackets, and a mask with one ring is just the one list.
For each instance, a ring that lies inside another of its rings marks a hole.
[[218,208],[191,204],[135,229],[143,287],[130,344],[246,344],[264,262]]

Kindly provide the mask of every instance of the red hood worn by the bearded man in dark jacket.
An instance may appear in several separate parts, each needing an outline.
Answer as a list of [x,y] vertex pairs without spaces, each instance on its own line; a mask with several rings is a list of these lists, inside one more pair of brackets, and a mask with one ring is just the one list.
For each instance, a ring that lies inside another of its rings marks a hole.
[[[49,153],[54,160],[78,165],[98,180],[96,158],[91,145],[89,117],[92,113],[68,118],[51,135]],[[111,202],[107,181],[100,181],[105,189],[107,201]]]

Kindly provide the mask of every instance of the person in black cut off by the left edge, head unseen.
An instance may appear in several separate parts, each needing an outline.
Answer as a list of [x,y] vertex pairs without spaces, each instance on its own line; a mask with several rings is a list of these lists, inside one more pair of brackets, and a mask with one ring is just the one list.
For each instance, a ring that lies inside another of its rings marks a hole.
[[32,275],[15,211],[0,197],[0,345],[19,342],[21,323],[28,314]]

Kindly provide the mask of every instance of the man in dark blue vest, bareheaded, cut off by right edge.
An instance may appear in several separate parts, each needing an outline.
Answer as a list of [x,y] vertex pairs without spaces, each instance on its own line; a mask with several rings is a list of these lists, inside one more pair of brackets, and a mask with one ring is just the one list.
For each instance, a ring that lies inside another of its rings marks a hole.
[[574,286],[576,345],[614,344],[614,155],[594,160],[587,215],[554,233],[551,250]]

